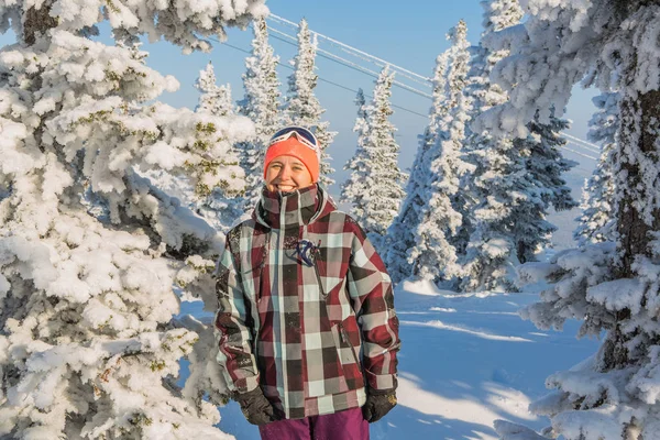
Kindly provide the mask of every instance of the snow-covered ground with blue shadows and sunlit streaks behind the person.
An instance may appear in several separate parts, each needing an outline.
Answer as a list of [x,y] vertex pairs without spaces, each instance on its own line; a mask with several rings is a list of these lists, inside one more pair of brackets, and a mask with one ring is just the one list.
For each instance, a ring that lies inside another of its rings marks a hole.
[[[372,425],[372,439],[496,439],[493,420],[540,429],[527,411],[551,373],[584,360],[597,341],[576,340],[578,322],[542,332],[516,311],[536,294],[458,296],[404,284],[395,294],[400,320],[398,406]],[[200,302],[186,304],[198,314]],[[258,440],[235,403],[220,408],[220,428]]]

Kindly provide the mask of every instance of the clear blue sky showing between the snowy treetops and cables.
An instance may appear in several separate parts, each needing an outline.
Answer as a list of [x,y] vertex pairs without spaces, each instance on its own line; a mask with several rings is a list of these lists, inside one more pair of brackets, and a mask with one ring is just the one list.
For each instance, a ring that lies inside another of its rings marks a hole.
[[[354,46],[361,51],[373,54],[387,62],[397,64],[415,73],[430,76],[435,65],[436,56],[448,46],[444,37],[447,31],[455,25],[460,19],[464,19],[469,28],[469,40],[472,44],[479,42],[482,32],[483,8],[480,0],[449,1],[437,0],[433,2],[421,0],[409,0],[407,2],[393,0],[332,0],[332,1],[308,1],[308,0],[268,0],[266,4],[271,11],[287,20],[298,22],[306,18],[312,31],[330,36],[342,43]],[[278,26],[294,34],[295,30]],[[216,67],[219,82],[230,82],[234,99],[243,96],[241,75],[244,72],[244,58],[248,54],[240,50],[250,50],[252,31],[229,30],[228,44],[216,44],[209,54],[196,53],[185,56],[178,47],[168,43],[160,42],[145,44],[144,50],[151,56],[147,63],[163,74],[174,75],[180,82],[180,88],[175,94],[162,96],[162,100],[177,107],[194,108],[197,103],[198,92],[193,87],[199,70],[211,61]],[[0,43],[8,43],[12,38],[6,35]],[[271,38],[276,54],[280,61],[290,61],[296,48],[283,41]],[[321,40],[320,47],[332,53],[344,56],[337,47],[329,46]],[[354,58],[353,58],[354,59]],[[364,64],[364,63],[363,63]],[[330,62],[322,57],[317,59],[318,74],[320,78],[337,82],[349,89],[363,88],[371,94],[374,78]],[[375,65],[369,66],[378,70]],[[286,89],[286,79],[290,69],[280,66],[280,81],[283,91]],[[421,88],[421,86],[419,86]],[[575,95],[571,100],[566,118],[573,121],[570,133],[586,139],[586,122],[594,110],[591,105],[592,90],[575,88]],[[342,170],[343,164],[354,152],[356,138],[352,133],[356,108],[353,105],[355,94],[323,80],[319,81],[317,96],[321,105],[327,109],[326,119],[330,121],[330,128],[339,132],[329,153],[333,157],[333,167],[337,169],[336,179],[343,180],[346,175]],[[393,88],[393,103],[410,109],[417,113],[428,112],[430,100],[417,96],[400,88]],[[422,132],[426,118],[407,113],[395,109],[392,118],[398,129],[397,141],[402,147],[400,165],[409,167],[415,157],[417,148],[417,134]],[[593,153],[592,153],[593,154]],[[593,168],[594,162],[566,152],[566,156],[581,163],[580,179]],[[336,185],[331,193],[339,190]]]

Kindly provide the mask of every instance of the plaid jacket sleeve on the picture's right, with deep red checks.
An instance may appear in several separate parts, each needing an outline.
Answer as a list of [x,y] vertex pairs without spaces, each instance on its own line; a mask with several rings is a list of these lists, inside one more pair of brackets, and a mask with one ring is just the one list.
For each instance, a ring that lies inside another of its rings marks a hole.
[[369,387],[395,389],[400,348],[392,280],[360,226],[351,245],[348,286],[363,339],[363,367]]

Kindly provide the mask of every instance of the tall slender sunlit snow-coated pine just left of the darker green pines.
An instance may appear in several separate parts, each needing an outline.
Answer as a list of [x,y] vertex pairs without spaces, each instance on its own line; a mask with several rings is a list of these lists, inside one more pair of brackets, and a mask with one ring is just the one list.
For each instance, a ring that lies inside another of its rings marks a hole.
[[473,169],[461,154],[470,111],[463,94],[470,62],[468,26],[463,20],[450,30],[448,38],[452,42],[447,74],[448,110],[440,121],[436,154],[430,164],[431,176],[422,194],[426,202],[415,230],[415,245],[409,257],[413,261],[413,275],[435,283],[461,275],[453,243],[462,224],[457,202],[461,202],[461,176]]

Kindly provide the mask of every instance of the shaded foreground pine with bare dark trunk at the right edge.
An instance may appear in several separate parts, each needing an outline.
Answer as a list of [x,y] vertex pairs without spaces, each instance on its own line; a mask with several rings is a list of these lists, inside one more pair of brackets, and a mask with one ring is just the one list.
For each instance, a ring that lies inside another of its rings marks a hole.
[[[617,90],[619,134],[612,153],[616,243],[564,251],[548,264],[522,267],[550,286],[525,309],[539,328],[582,320],[580,336],[601,336],[587,361],[550,376],[554,391],[531,405],[552,426],[547,437],[650,439],[660,432],[660,4],[656,1],[527,2],[525,25],[503,35],[513,53],[494,69],[510,99],[477,120],[506,135],[525,136],[538,109],[547,123],[564,109],[575,82]],[[575,63],[579,61],[579,63]],[[502,438],[522,429],[497,426]],[[502,429],[501,429],[502,428]]]

